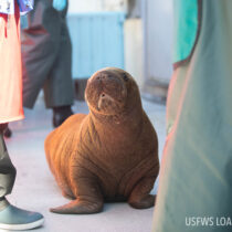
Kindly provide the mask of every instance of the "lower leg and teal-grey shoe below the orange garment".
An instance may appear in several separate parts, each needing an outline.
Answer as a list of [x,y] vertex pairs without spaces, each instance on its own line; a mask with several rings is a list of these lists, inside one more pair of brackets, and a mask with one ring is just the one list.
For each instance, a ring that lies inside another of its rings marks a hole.
[[11,193],[17,173],[3,139],[6,127],[7,124],[0,124],[0,229],[29,230],[38,228],[44,221],[43,215],[13,207],[6,199],[6,196]]

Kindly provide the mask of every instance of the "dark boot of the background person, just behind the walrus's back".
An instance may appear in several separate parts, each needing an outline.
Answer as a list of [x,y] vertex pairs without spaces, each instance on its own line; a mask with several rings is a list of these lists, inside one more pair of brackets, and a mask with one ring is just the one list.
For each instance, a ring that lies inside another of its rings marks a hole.
[[53,127],[59,127],[71,115],[73,115],[71,106],[54,107],[53,108]]

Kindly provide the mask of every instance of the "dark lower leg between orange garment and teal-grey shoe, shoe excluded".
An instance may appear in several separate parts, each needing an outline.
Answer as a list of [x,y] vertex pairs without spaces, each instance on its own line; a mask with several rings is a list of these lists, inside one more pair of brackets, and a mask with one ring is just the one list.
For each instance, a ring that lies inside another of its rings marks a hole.
[[0,128],[0,198],[11,193],[17,170],[13,167]]

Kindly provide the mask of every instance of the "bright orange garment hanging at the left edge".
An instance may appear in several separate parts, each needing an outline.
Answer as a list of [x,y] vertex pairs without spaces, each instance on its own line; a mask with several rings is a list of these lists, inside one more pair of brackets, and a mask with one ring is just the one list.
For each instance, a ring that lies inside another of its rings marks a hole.
[[0,13],[0,124],[23,118],[20,12]]

